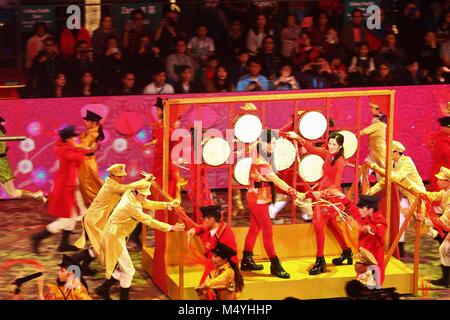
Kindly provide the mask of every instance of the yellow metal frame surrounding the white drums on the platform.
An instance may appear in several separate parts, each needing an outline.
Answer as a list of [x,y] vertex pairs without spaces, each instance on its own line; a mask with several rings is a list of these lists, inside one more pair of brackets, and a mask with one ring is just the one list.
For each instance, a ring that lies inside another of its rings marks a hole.
[[[189,105],[189,104],[217,104],[217,103],[244,103],[244,102],[267,102],[267,101],[289,101],[289,100],[303,100],[303,99],[324,99],[324,98],[358,98],[358,97],[370,97],[370,96],[389,96],[389,110],[388,110],[388,125],[387,125],[387,139],[386,145],[386,163],[392,162],[392,139],[393,139],[393,127],[394,127],[394,99],[395,90],[358,90],[358,91],[340,91],[340,92],[313,92],[313,93],[287,93],[287,94],[261,94],[261,95],[235,95],[235,96],[215,96],[205,98],[170,98],[164,101],[164,134],[163,134],[163,183],[162,187],[165,192],[168,191],[169,186],[169,125],[170,125],[170,107],[172,105]],[[360,109],[358,104],[357,109]],[[358,114],[360,114],[358,112]],[[386,166],[386,203],[387,203],[387,230],[390,230],[390,204],[391,204],[391,168]],[[357,174],[357,173],[356,173]],[[389,245],[389,234],[386,233],[386,249]],[[182,237],[180,234],[180,243],[185,252],[186,237]],[[184,258],[183,255],[179,255],[179,298],[183,299],[184,296]]]

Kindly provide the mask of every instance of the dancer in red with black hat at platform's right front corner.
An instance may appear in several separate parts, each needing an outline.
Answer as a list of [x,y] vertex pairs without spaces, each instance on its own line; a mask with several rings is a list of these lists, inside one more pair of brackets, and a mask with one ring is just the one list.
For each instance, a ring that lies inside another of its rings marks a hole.
[[378,211],[379,199],[376,196],[360,195],[355,206],[340,190],[331,188],[326,192],[339,198],[346,210],[359,223],[360,233],[358,247],[369,250],[380,268],[380,283],[384,281],[384,238],[386,235],[386,218]]

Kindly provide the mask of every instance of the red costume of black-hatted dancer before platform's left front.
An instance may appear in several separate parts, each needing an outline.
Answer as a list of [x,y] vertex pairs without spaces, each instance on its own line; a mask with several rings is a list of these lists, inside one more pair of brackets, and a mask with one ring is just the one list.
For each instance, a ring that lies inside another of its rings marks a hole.
[[[212,253],[211,250],[215,249],[217,246],[217,242],[221,242],[224,245],[230,247],[234,251],[237,252],[236,238],[234,237],[234,233],[231,228],[225,223],[221,222],[219,228],[217,229],[214,235],[211,235],[211,230],[200,226],[195,228],[195,234],[200,237],[204,247],[204,256],[206,257],[205,262],[205,271],[203,272],[202,279],[200,280],[200,284],[202,284],[206,277],[210,272],[214,270],[214,264],[212,262]],[[233,256],[231,260],[239,265],[239,261],[237,255]]]

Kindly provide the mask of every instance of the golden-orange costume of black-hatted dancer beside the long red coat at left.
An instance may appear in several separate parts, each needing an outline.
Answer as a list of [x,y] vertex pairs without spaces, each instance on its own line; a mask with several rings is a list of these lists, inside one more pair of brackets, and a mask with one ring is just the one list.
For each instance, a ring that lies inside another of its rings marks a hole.
[[[91,148],[92,153],[97,150],[98,128],[89,129],[80,135],[80,144],[77,147]],[[85,160],[78,169],[78,179],[80,180],[80,192],[84,203],[89,206],[94,201],[95,196],[103,185],[103,180],[98,175],[98,166],[95,155],[85,157]]]

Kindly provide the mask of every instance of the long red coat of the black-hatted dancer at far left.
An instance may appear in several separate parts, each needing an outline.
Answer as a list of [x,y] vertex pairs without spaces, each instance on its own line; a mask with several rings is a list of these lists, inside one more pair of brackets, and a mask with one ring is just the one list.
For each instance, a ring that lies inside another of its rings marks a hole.
[[55,150],[59,159],[59,169],[49,195],[48,213],[58,218],[70,218],[73,208],[76,207],[77,170],[89,151],[62,141],[56,143]]

